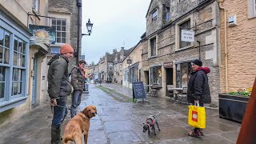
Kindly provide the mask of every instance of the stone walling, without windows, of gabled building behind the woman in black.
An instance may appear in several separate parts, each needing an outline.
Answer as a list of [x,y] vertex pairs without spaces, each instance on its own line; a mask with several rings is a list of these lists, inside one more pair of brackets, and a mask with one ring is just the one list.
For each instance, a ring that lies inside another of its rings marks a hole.
[[[213,106],[218,106],[218,92],[220,91],[220,78],[219,78],[219,66],[218,66],[218,26],[215,26],[218,20],[218,3],[210,2],[208,5],[199,7],[197,11],[193,11],[190,14],[185,15],[182,18],[182,14],[192,10],[193,6],[197,6],[194,1],[182,1],[175,3],[173,1],[171,6],[171,22],[166,28],[158,30],[157,34],[150,35],[146,38],[146,44],[144,46],[142,54],[142,71],[150,71],[150,66],[161,65],[163,62],[174,62],[174,86],[176,83],[175,63],[187,62],[199,57],[199,45],[197,40],[201,42],[201,59],[203,66],[210,68],[211,73],[208,74],[210,92],[212,95]],[[176,5],[177,4],[177,5]],[[174,8],[175,7],[175,8]],[[173,9],[172,9],[173,8]],[[176,9],[177,8],[177,9]],[[179,19],[174,22],[175,19]],[[179,23],[190,18],[191,29],[195,32],[195,41],[191,46],[179,49]],[[151,30],[147,28],[147,30]],[[148,31],[146,31],[147,33]],[[150,32],[151,33],[151,32]],[[147,34],[148,35],[148,34]],[[150,47],[150,38],[157,37],[157,57],[150,58],[148,54]],[[143,79],[145,75],[142,72]],[[162,88],[158,90],[158,95],[166,96],[166,70],[162,66]]]

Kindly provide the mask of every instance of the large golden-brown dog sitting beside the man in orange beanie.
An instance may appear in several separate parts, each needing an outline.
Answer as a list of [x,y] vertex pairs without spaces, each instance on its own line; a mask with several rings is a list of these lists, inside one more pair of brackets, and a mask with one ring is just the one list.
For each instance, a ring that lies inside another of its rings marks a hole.
[[70,122],[67,122],[64,130],[63,143],[73,141],[76,144],[82,144],[82,133],[84,133],[85,144],[87,144],[90,118],[93,118],[95,114],[97,114],[95,106],[86,106],[81,113],[70,119]]

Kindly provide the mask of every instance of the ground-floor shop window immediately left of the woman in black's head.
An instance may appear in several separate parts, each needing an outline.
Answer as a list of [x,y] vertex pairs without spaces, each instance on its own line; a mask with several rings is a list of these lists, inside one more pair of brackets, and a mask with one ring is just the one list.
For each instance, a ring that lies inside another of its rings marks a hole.
[[176,86],[187,87],[192,72],[191,62],[176,65]]

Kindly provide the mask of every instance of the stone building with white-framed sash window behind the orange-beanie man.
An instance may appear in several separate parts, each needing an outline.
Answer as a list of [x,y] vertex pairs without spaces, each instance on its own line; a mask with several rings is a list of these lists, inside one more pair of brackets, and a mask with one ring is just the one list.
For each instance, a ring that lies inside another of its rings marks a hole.
[[[78,15],[77,1],[68,0],[49,0],[48,16],[53,17],[49,20],[49,26],[54,26],[56,29],[56,42],[50,45],[48,59],[54,54],[58,54],[63,43],[70,44],[74,48],[75,57],[72,62],[69,62],[69,70],[76,65],[76,62],[81,57],[81,26],[82,14]],[[82,7],[80,8],[82,9]],[[78,19],[80,23],[78,26]],[[78,43],[79,31],[79,43]],[[80,50],[78,50],[78,48]],[[79,54],[77,53],[79,51]],[[79,57],[79,58],[77,58]]]

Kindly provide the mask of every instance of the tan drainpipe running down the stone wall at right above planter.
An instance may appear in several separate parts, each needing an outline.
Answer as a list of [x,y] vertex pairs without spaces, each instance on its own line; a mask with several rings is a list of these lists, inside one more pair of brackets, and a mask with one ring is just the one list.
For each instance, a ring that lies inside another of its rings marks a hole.
[[227,39],[227,34],[226,34],[226,29],[227,29],[227,26],[226,26],[226,18],[227,18],[227,10],[224,6],[222,6],[222,3],[224,2],[224,0],[216,0],[218,2],[218,6],[220,9],[224,10],[224,35],[225,35],[225,38],[224,38],[224,48],[225,48],[225,92],[227,93],[228,90],[229,90],[229,84],[228,84],[228,75],[227,75],[227,68],[228,68],[228,63],[227,63],[227,57],[228,57],[228,53],[227,53],[227,42],[226,42],[226,39]]

